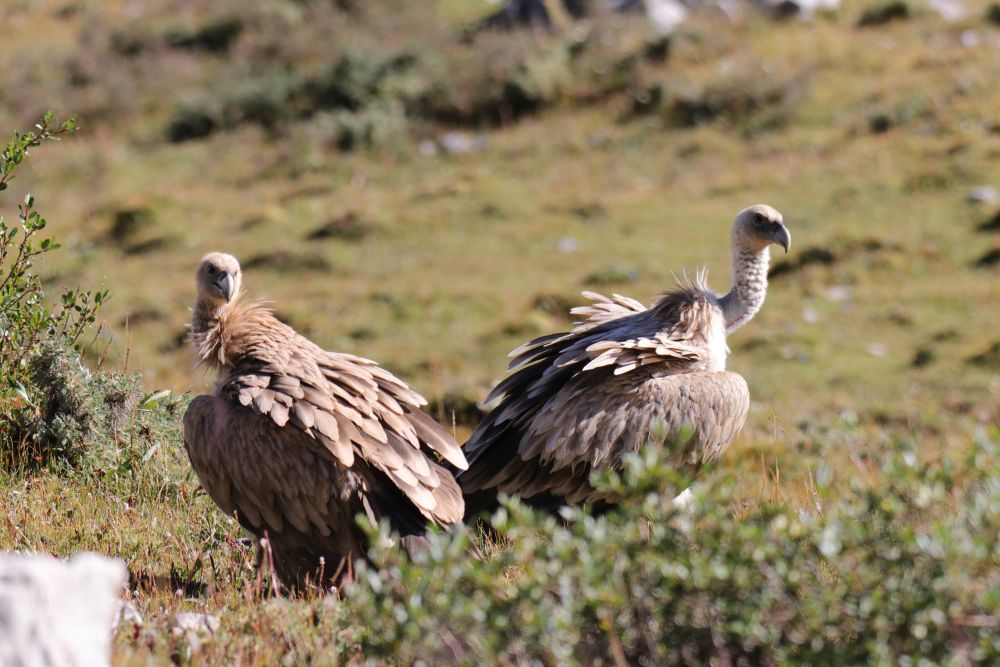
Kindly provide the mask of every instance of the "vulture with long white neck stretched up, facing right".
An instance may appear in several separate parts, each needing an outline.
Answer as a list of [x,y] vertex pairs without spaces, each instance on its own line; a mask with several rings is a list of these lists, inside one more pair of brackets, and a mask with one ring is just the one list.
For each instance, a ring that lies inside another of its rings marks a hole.
[[717,296],[705,273],[649,309],[632,299],[585,292],[591,306],[572,331],[514,350],[510,375],[490,393],[499,401],[463,447],[469,468],[458,474],[467,515],[496,506],[497,494],[531,504],[606,505],[613,498],[589,481],[597,469],[654,440],[692,433],[676,466],[697,471],[718,459],[746,420],[746,381],[727,372],[726,334],[764,302],[769,246],[788,250],[781,214],[751,206],[733,223],[733,288]]

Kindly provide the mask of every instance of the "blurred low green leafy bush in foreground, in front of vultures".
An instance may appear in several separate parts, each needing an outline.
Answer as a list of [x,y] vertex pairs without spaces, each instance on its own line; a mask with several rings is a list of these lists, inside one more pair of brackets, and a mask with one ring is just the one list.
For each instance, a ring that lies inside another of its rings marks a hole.
[[364,619],[361,652],[401,663],[991,663],[998,435],[958,463],[900,447],[881,488],[821,484],[815,512],[741,518],[731,488],[674,509],[677,478],[649,450],[602,481],[621,509],[556,519],[509,502],[482,561],[464,532],[413,561],[377,549],[343,604]]

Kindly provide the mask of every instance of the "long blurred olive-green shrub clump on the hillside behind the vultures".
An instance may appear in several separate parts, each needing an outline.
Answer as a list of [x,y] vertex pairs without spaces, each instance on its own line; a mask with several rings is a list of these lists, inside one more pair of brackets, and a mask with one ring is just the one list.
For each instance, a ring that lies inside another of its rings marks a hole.
[[[628,89],[645,65],[662,62],[669,51],[669,40],[623,17],[561,37],[485,32],[467,41],[428,22],[423,9],[369,7],[363,30],[354,31],[359,19],[347,18],[351,12],[309,11],[333,12],[323,20],[336,38],[323,40],[333,46],[321,58],[271,53],[263,66],[227,70],[177,109],[168,138],[196,139],[247,123],[273,130],[319,114],[321,123],[335,119],[342,131],[334,141],[347,150],[428,123],[503,124],[563,101]],[[413,19],[402,41],[396,14]],[[359,37],[367,32],[386,39]]]

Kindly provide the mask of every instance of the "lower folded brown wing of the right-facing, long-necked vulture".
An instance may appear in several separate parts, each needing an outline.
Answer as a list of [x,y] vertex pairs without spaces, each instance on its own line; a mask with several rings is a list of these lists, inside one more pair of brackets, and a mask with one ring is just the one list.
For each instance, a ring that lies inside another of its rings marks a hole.
[[491,465],[480,469],[474,461],[472,474],[459,478],[463,488],[592,502],[600,494],[590,485],[591,470],[617,468],[653,443],[668,448],[676,467],[696,472],[722,455],[746,420],[749,392],[735,373],[623,380],[597,389],[574,383],[553,397],[532,415],[516,452],[485,452]]

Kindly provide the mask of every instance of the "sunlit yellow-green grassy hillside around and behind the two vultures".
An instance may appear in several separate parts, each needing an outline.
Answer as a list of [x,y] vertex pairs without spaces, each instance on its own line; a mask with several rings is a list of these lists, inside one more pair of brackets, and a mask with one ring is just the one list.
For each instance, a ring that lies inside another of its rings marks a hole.
[[[48,108],[81,127],[32,156],[0,210],[38,196],[64,244],[41,267],[50,293],[111,291],[91,364],[173,392],[69,477],[4,473],[0,546],[125,558],[147,625],[120,633],[123,662],[178,650],[179,608],[223,618],[205,656],[357,646],[332,602],[248,604],[263,585],[252,551],[180,449],[185,395],[211,382],[183,340],[210,250],[237,255],[250,294],[316,342],[411,382],[461,436],[506,353],[568,326],[581,290],[648,302],[702,265],[728,289],[729,224],[766,202],[793,244],[730,339],[753,406],[706,480],[732,491],[730,520],[813,508],[820,470],[834,496],[887,487],[900,442],[934,466],[965,460],[1000,422],[1000,200],[969,200],[1000,187],[988,3],[955,23],[912,3],[869,27],[876,3],[811,22],[707,13],[669,40],[617,16],[471,37],[486,2],[246,4],[0,9],[0,129]],[[474,149],[446,150],[455,131]],[[959,469],[953,500],[995,492],[995,475]],[[995,589],[995,571],[973,588]]]

